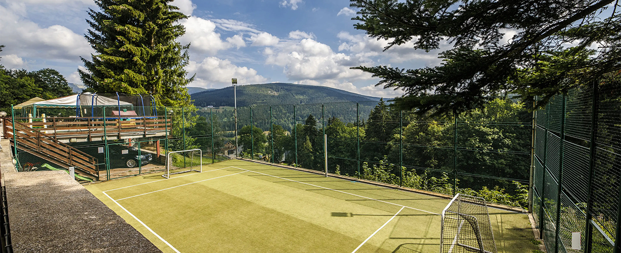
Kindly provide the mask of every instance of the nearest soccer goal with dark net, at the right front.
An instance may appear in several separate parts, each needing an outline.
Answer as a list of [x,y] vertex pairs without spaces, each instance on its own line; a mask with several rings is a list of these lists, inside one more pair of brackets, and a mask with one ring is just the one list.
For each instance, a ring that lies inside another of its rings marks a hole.
[[442,211],[440,253],[497,253],[484,198],[457,194]]

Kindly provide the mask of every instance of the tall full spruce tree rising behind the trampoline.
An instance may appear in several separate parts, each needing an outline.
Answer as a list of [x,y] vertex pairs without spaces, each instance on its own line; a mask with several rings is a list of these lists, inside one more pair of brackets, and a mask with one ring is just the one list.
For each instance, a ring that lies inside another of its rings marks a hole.
[[179,20],[188,16],[172,0],[96,0],[89,9],[92,29],[85,35],[96,51],[78,69],[86,86],[97,92],[151,94],[158,105],[188,106],[188,45],[175,39],[185,33]]

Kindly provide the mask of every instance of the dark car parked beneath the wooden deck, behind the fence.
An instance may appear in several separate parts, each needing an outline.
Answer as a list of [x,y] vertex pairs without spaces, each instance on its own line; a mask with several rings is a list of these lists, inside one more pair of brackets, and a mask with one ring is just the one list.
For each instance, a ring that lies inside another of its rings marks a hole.
[[[151,153],[141,151],[140,155],[138,155],[138,148],[134,146],[130,147],[113,144],[108,146],[108,150],[110,152],[109,158],[111,169],[120,167],[137,167],[138,161],[140,161],[142,166],[145,166],[145,164],[148,164],[153,160]],[[99,153],[99,149],[97,147],[94,147],[93,149],[89,148],[88,151],[85,152],[97,158],[100,163],[104,163],[104,161],[106,161],[105,153]]]

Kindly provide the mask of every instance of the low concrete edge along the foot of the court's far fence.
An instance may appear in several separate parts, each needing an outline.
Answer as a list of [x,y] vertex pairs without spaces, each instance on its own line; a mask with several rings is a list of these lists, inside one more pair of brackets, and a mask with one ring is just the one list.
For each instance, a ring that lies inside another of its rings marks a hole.
[[[313,171],[311,169],[304,169],[304,168],[301,168],[301,167],[293,167],[293,166],[288,166],[288,165],[283,165],[283,164],[273,164],[271,162],[255,161],[255,160],[251,160],[251,159],[247,159],[247,158],[236,158],[236,159],[242,160],[242,161],[248,161],[248,162],[255,162],[255,163],[258,163],[258,164],[264,164],[264,165],[269,165],[269,166],[283,167],[285,169],[293,169],[293,170],[296,170],[296,171],[304,171],[304,172],[309,172],[309,173],[318,174],[318,175],[325,175],[323,172]],[[356,181],[356,182],[361,182],[361,183],[365,183],[365,184],[378,185],[378,186],[381,186],[381,187],[386,187],[386,188],[391,188],[391,189],[404,190],[406,192],[414,192],[414,193],[430,195],[430,196],[438,197],[438,198],[446,198],[448,200],[453,198],[453,196],[448,195],[448,194],[437,193],[437,192],[430,192],[430,191],[427,191],[427,190],[419,190],[419,189],[412,189],[412,188],[408,188],[408,187],[400,187],[398,185],[384,184],[384,183],[381,183],[381,182],[375,182],[375,181],[365,180],[365,179],[356,179],[355,177],[347,177],[345,175],[337,175],[337,174],[332,174],[332,173],[328,173],[328,175],[330,177],[335,177],[337,179],[345,179],[345,180]],[[501,210],[506,210],[506,211],[513,211],[515,213],[528,213],[527,210],[525,210],[523,208],[518,208],[518,207],[515,207],[515,206],[507,206],[507,205],[501,205],[501,204],[497,204],[497,203],[487,203],[487,206],[492,207],[492,208],[501,209]],[[532,224],[532,222],[531,222],[531,224]]]

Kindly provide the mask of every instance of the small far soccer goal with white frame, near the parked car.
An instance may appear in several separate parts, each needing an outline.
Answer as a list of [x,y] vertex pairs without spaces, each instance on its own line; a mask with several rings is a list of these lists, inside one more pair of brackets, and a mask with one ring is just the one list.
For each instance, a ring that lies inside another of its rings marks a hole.
[[166,172],[161,176],[168,179],[170,175],[191,171],[202,172],[201,149],[172,151],[166,154]]

